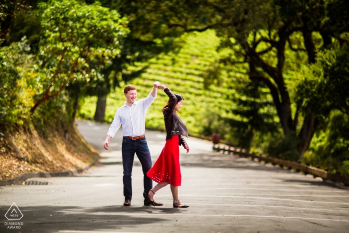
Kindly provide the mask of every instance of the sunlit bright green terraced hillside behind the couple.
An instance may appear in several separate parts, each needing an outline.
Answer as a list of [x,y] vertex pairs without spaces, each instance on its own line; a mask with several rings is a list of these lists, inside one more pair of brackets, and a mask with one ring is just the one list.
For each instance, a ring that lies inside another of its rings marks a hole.
[[[233,115],[230,109],[236,107],[231,96],[236,95],[234,83],[236,77],[248,79],[243,72],[221,69],[219,78],[207,82],[207,76],[212,76],[220,58],[217,50],[219,38],[213,30],[194,32],[182,36],[185,43],[177,53],[161,54],[149,62],[149,68],[140,77],[129,83],[121,83],[120,88],[108,95],[106,117],[112,122],[116,110],[125,102],[124,86],[134,84],[137,87],[138,99],[146,97],[152,89],[154,81],[171,88],[174,93],[184,97],[183,107],[178,113],[190,133],[211,135],[213,131],[222,133],[222,138],[234,141],[233,132],[229,125],[224,125],[221,118],[241,118]],[[144,64],[135,64],[130,70],[137,70]],[[213,75],[214,76],[214,75]],[[269,100],[270,101],[270,96]],[[242,96],[242,98],[246,98]],[[162,108],[168,97],[159,90],[158,98],[148,110],[146,126],[152,129],[164,129]],[[267,101],[267,100],[264,100]],[[79,117],[93,119],[97,97],[85,97],[80,101]]]

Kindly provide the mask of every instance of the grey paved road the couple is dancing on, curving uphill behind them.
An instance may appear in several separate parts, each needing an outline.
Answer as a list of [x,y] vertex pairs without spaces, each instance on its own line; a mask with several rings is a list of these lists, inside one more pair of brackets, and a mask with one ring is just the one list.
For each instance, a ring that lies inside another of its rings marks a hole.
[[[102,143],[109,126],[79,122],[82,135],[102,153],[100,164],[66,178],[35,178],[43,186],[0,187],[0,233],[349,233],[349,191],[293,171],[213,152],[207,141],[189,138],[181,149],[181,202],[172,207],[170,188],[155,195],[163,207],[143,206],[143,175],[135,159],[134,197],[124,207],[121,135]],[[146,132],[153,162],[165,134]],[[7,221],[15,202],[24,217]],[[22,223],[20,230],[7,229]],[[5,225],[7,224],[7,225]]]

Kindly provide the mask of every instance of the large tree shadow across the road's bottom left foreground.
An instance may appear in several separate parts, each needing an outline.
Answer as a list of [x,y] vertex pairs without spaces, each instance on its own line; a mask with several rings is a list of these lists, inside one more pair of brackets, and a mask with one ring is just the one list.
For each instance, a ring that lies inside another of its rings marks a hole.
[[[8,206],[0,206],[1,213],[6,213]],[[159,212],[160,210],[160,212]],[[79,208],[74,206],[35,206],[20,208],[23,218],[17,221],[22,222],[20,230],[7,229],[4,224],[0,225],[0,232],[35,232],[35,233],[56,233],[58,231],[122,231],[124,227],[139,229],[141,225],[153,223],[164,223],[169,220],[159,218],[157,214],[177,214],[183,210],[176,208],[154,208],[104,206],[98,208]],[[83,212],[83,213],[81,213]],[[139,214],[140,216],[137,216]],[[149,216],[147,216],[149,214]]]

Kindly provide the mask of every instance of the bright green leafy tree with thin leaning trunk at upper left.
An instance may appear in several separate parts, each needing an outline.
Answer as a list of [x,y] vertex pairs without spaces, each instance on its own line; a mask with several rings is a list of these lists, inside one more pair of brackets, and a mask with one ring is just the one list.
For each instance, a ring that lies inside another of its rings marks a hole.
[[102,79],[100,71],[118,56],[120,38],[129,32],[126,18],[99,2],[50,0],[39,7],[43,38],[37,78],[42,84],[31,112],[75,80]]

